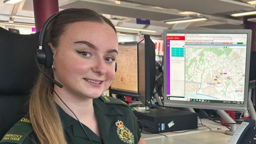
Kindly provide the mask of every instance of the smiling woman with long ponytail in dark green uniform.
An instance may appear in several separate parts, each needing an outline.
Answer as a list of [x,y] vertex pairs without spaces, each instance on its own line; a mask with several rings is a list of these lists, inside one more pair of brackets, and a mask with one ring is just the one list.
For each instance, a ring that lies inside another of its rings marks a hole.
[[29,115],[0,143],[146,143],[130,108],[103,97],[115,75],[116,30],[107,18],[88,9],[61,12],[47,31],[53,66],[31,91]]

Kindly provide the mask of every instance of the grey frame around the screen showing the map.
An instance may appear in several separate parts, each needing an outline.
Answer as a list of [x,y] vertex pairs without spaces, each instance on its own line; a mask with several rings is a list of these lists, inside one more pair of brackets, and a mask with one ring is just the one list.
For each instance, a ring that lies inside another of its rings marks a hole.
[[[184,108],[201,108],[201,109],[221,109],[245,111],[248,106],[248,88],[249,88],[249,71],[250,71],[250,54],[251,54],[251,30],[250,29],[221,29],[221,30],[164,30],[164,106],[184,107]],[[166,99],[166,35],[167,34],[247,34],[247,49],[245,63],[245,90],[244,104],[231,103],[210,103],[210,102],[193,102]]]

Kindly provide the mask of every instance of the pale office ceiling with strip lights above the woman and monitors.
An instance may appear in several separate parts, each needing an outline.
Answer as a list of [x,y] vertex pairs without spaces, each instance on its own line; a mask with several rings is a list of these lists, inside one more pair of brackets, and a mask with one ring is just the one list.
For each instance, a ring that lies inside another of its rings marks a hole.
[[[23,0],[18,4],[0,2],[0,21],[9,21],[12,15],[34,17],[33,0]],[[243,18],[230,14],[256,10],[248,0],[59,0],[59,9],[70,7],[89,8],[106,17],[116,26],[156,30],[156,33],[134,30],[117,31],[126,34],[149,34],[162,37],[164,29],[242,29]],[[196,12],[192,15],[180,12]],[[168,20],[207,17],[206,21],[167,25]],[[136,23],[136,18],[150,20],[150,25]],[[15,18],[14,22],[34,23],[34,20]]]

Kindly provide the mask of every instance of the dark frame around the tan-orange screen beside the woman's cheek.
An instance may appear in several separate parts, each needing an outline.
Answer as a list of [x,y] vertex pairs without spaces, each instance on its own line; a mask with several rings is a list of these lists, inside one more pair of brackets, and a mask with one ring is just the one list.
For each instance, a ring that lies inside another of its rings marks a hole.
[[[137,71],[138,71],[138,42],[119,42],[118,45],[134,45],[137,47]],[[118,70],[118,63],[117,63],[117,70]],[[137,83],[138,83],[138,91],[131,92],[131,91],[125,91],[125,90],[117,90],[117,89],[111,89],[111,85],[109,86],[109,94],[119,94],[124,96],[130,96],[132,98],[138,98],[139,97],[139,74],[137,73]]]

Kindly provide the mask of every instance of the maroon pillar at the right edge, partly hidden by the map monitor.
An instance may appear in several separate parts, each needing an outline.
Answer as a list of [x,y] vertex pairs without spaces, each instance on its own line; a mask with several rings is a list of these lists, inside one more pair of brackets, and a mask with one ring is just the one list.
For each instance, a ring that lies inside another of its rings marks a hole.
[[256,18],[255,15],[244,17],[244,29],[252,30],[252,45],[251,51],[256,51],[256,22],[247,21],[247,19]]

